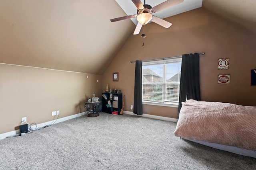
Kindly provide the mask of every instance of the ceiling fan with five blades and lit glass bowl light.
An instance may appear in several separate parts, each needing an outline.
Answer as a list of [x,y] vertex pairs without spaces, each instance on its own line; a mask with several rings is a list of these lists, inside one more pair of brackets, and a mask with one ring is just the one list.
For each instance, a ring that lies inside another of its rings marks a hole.
[[[146,25],[149,21],[153,21],[154,23],[157,23],[165,28],[168,28],[172,25],[172,23],[167,22],[161,18],[158,18],[156,16],[153,16],[155,12],[159,12],[161,10],[164,10],[166,8],[169,8],[171,6],[177,5],[182,3],[184,0],[167,0],[161,4],[158,4],[157,6],[153,7],[150,5],[147,5],[146,0],[144,0],[144,5],[140,0],[132,0],[134,5],[138,8],[137,10],[137,15],[130,15],[130,16],[124,16],[124,17],[119,17],[119,18],[114,18],[111,19],[111,22],[116,22],[116,21],[121,21],[121,20],[126,20],[130,18],[136,18],[138,20],[138,24],[134,30],[134,35],[140,33],[140,29],[142,25]],[[144,34],[143,34],[144,35]]]

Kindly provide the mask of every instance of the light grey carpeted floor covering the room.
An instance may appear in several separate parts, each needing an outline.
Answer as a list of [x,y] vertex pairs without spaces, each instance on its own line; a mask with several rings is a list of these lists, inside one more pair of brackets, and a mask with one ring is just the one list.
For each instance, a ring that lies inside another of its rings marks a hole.
[[176,123],[100,113],[0,140],[0,170],[250,170],[256,158],[179,139]]

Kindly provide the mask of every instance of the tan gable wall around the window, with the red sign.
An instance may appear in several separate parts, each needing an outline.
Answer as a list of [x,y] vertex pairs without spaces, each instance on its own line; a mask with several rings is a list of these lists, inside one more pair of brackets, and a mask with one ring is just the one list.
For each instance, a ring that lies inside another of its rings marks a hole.
[[[256,35],[203,8],[166,18],[173,25],[166,29],[156,23],[145,25],[146,38],[131,35],[102,77],[103,88],[122,90],[124,110],[130,111],[134,98],[135,63],[130,61],[201,53],[201,98],[256,106],[256,86],[250,86],[250,70],[256,69]],[[144,41],[144,47],[142,43]],[[218,59],[229,58],[230,68],[218,70]],[[119,82],[112,82],[119,72]],[[230,84],[218,84],[218,74],[230,74]],[[104,89],[103,89],[104,90]],[[178,118],[178,108],[143,105],[143,113]]]

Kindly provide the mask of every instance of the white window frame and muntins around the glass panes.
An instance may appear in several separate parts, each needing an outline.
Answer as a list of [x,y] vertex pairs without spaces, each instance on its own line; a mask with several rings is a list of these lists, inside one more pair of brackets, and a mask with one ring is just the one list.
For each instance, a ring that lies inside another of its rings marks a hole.
[[[142,62],[142,97],[143,97],[143,88],[144,88],[144,83],[143,83],[143,66],[147,66],[147,65],[157,65],[157,64],[170,64],[170,63],[180,63],[180,67],[181,67],[181,63],[182,63],[182,56],[180,57],[175,57],[175,58],[170,58],[170,59],[164,59],[164,60],[154,60],[154,61],[144,61]],[[163,66],[164,67],[164,66]],[[164,70],[166,68],[163,68],[163,73],[166,73],[166,70]],[[180,69],[181,71],[181,69]],[[176,74],[178,74],[179,72],[177,72]],[[166,75],[163,75],[163,80],[164,78],[166,79]],[[147,84],[147,83],[145,83]],[[154,83],[152,83],[154,84]],[[167,96],[167,93],[168,93],[168,90],[167,90],[167,80],[164,80],[162,83],[155,83],[155,84],[162,84],[162,97],[165,97],[166,99],[166,96]],[[180,81],[177,83],[174,83],[174,84],[179,84],[180,86]],[[165,89],[166,88],[166,89]],[[180,89],[180,87],[178,88]],[[165,93],[165,95],[164,95]],[[178,92],[179,94],[180,92]],[[179,96],[179,95],[178,95]],[[167,107],[178,107],[178,104],[179,102],[166,102],[164,99],[163,102],[156,102],[156,101],[148,101],[148,100],[143,100],[142,99],[142,104],[147,104],[147,105],[156,105],[156,106],[167,106]]]

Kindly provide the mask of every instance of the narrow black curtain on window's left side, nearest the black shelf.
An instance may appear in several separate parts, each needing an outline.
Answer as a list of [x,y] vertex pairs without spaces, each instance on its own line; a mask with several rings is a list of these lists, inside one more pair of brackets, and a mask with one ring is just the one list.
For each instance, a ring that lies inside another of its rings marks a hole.
[[142,61],[135,64],[134,107],[133,113],[142,115]]

